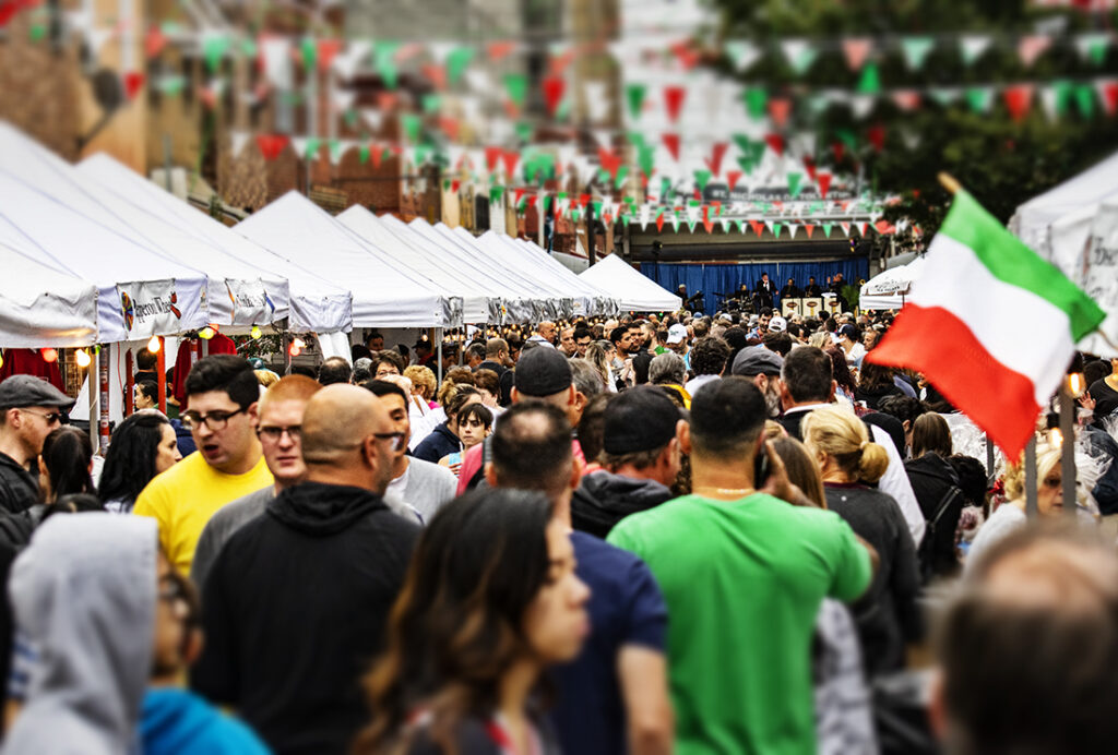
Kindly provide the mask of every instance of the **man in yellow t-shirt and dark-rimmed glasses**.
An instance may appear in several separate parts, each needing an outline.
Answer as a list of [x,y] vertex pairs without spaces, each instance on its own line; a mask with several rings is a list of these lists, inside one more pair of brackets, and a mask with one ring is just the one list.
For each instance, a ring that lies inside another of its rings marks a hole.
[[198,451],[152,479],[132,509],[159,522],[159,542],[181,574],[190,573],[198,538],[219,508],[275,482],[256,437],[252,365],[233,354],[207,356],[186,389],[189,410],[180,417]]

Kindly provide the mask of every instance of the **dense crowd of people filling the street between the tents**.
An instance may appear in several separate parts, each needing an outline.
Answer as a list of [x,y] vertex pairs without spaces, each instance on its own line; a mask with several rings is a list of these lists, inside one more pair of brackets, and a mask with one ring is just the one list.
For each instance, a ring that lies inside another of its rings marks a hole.
[[1034,481],[989,466],[866,360],[890,324],[218,354],[174,419],[141,374],[103,463],[8,378],[0,752],[1108,752],[1118,359],[1077,365],[1064,500],[1045,418]]

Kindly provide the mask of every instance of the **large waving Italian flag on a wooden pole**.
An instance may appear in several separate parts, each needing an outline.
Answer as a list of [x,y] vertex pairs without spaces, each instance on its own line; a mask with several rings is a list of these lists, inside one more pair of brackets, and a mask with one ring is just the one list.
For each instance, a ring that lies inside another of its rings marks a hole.
[[1016,459],[1076,343],[1105,317],[1055,266],[958,191],[923,274],[866,361],[923,373]]

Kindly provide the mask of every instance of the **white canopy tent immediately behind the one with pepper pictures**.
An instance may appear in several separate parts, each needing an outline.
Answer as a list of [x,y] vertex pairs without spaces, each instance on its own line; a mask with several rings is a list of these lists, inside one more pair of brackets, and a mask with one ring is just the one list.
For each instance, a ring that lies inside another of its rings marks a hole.
[[285,312],[280,303],[275,303],[276,318],[284,313],[293,331],[333,333],[352,329],[353,309],[348,288],[335,286],[309,269],[249,241],[106,154],[86,157],[78,163],[77,171],[117,192],[130,203],[165,218],[199,242],[216,247],[255,269],[272,273],[274,277],[288,281],[290,310]]

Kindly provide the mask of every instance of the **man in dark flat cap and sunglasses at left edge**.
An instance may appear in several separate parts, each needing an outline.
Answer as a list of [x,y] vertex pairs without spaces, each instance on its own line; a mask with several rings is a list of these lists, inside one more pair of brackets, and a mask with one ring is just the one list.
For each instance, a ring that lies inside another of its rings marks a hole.
[[0,383],[0,508],[18,514],[39,503],[38,468],[32,475],[29,465],[73,405],[74,399],[34,375]]

